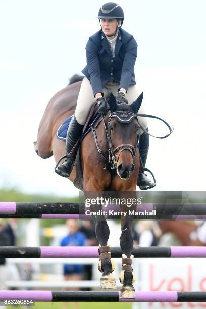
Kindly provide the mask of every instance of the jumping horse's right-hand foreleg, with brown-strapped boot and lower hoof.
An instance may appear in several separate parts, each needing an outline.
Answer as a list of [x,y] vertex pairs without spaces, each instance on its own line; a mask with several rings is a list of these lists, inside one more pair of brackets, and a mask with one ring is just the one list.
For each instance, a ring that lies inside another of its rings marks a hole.
[[120,282],[123,284],[121,288],[122,298],[135,298],[135,289],[133,282],[135,281],[135,274],[132,269],[131,255],[133,249],[133,237],[132,237],[132,216],[126,216],[121,218],[122,234],[120,236],[120,246],[122,249],[122,271],[120,273]]

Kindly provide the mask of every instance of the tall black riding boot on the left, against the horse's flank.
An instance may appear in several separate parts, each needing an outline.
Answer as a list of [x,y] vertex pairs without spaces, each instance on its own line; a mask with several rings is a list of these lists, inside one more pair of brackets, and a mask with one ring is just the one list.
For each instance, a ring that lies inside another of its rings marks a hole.
[[69,124],[69,128],[67,130],[67,140],[66,140],[67,158],[65,162],[57,166],[55,169],[55,172],[62,177],[69,177],[69,175],[72,172],[78,147],[76,147],[75,151],[73,151],[71,156],[69,156],[69,154],[71,150],[73,149],[74,145],[76,144],[76,142],[78,141],[79,137],[81,136],[83,127],[84,127],[83,125],[80,125],[77,122],[75,115],[74,115],[74,117],[72,118]]

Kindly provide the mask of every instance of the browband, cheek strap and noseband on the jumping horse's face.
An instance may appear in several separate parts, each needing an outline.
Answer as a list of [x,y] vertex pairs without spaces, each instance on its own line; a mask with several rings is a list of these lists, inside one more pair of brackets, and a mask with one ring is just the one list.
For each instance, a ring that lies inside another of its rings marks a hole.
[[[128,124],[133,120],[133,118],[137,119],[137,115],[130,112],[130,111],[116,111],[116,112],[111,113],[109,115],[109,121],[108,121],[107,125],[106,125],[105,119],[104,119],[104,125],[105,125],[105,130],[106,130],[106,135],[107,135],[107,142],[108,142],[108,145],[109,145],[109,164],[110,164],[111,169],[116,169],[117,168],[117,162],[119,160],[119,157],[120,157],[122,151],[128,150],[131,153],[132,159],[133,159],[135,154],[136,154],[137,145],[135,145],[135,147],[134,147],[131,144],[121,144],[114,149],[114,147],[112,145],[112,136],[111,136],[111,127],[110,127],[110,123],[111,123],[112,118],[116,118],[121,123]],[[138,138],[138,142],[139,142],[139,138]],[[121,151],[119,152],[117,159],[115,159],[115,154],[119,150],[121,150]]]

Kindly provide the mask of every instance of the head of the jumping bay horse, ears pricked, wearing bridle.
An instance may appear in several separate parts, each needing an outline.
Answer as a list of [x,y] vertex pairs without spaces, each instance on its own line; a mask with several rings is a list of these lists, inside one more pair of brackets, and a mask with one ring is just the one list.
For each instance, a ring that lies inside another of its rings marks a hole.
[[110,94],[109,105],[111,114],[108,122],[109,140],[111,141],[110,160],[116,164],[117,174],[121,179],[128,179],[134,171],[138,141],[139,123],[136,114],[141,106],[143,92],[131,105],[117,104]]

